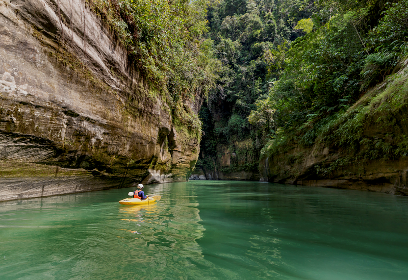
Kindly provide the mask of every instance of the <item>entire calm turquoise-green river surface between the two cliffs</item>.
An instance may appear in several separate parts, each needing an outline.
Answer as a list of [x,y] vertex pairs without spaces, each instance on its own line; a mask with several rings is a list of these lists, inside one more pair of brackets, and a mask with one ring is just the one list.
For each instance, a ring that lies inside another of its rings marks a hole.
[[408,197],[258,182],[0,203],[0,279],[408,279]]

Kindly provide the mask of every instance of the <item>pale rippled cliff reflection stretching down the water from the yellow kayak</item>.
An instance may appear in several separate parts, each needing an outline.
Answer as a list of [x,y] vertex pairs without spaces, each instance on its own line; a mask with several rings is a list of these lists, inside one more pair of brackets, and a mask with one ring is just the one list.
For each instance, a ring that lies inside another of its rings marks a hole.
[[208,266],[197,239],[205,228],[199,224],[197,196],[186,184],[149,186],[149,195],[161,195],[155,205],[121,206],[118,220],[128,251],[137,251],[137,275],[158,279],[201,279],[198,266]]

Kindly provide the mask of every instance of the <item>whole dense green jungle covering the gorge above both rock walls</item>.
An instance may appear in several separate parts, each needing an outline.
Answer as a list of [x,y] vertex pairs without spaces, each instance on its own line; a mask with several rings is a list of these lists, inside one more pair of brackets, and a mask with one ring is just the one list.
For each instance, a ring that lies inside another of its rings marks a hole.
[[[407,153],[405,138],[393,145],[362,143],[358,122],[327,133],[406,59],[407,0],[92,0],[89,5],[149,83],[169,93],[172,108],[197,93],[206,95],[196,168],[217,168],[220,144],[234,154],[224,171],[257,170],[262,156],[316,141],[334,141],[369,159]],[[362,144],[373,149],[361,151]]]

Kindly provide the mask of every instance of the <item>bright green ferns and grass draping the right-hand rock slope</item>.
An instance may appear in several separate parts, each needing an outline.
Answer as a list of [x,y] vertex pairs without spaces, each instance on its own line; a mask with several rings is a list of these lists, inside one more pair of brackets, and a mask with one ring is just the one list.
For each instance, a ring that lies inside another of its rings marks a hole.
[[317,141],[325,146],[347,152],[348,156],[327,166],[320,166],[321,174],[328,174],[352,162],[398,160],[408,156],[408,137],[401,133],[403,126],[396,116],[408,110],[408,75],[387,78],[385,90],[374,90],[344,114],[337,114],[318,132]]

